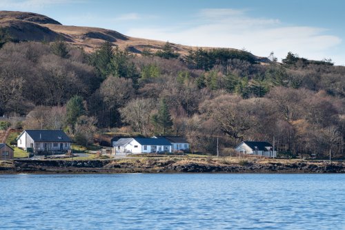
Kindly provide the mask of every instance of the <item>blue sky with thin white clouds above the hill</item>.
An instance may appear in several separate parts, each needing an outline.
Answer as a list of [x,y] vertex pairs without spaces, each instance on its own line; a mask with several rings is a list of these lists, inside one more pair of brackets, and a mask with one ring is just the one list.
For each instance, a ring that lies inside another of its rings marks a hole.
[[345,65],[343,0],[0,0],[0,10],[36,12],[63,25],[116,30],[183,45],[288,52]]

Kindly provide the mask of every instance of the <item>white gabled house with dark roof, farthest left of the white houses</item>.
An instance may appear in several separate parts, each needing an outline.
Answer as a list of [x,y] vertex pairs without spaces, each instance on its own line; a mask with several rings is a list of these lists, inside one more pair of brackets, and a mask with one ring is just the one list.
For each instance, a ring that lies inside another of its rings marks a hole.
[[67,151],[72,140],[62,130],[24,130],[17,137],[21,149],[39,151]]

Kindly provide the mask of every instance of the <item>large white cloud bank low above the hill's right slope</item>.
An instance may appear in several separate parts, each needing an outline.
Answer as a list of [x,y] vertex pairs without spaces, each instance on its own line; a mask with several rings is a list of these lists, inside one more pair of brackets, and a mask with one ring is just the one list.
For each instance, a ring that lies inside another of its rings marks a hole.
[[[324,28],[284,25],[279,19],[250,17],[248,10],[204,9],[190,21],[189,28],[132,28],[126,35],[193,46],[246,48],[258,56],[271,51],[282,59],[288,52],[321,60],[342,43]],[[343,59],[334,60],[345,63]]]

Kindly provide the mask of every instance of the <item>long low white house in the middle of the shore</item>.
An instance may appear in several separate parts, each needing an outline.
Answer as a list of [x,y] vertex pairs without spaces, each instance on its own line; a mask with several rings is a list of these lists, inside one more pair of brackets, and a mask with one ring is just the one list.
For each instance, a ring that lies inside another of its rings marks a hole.
[[172,145],[165,138],[120,138],[114,144],[116,155],[171,152]]

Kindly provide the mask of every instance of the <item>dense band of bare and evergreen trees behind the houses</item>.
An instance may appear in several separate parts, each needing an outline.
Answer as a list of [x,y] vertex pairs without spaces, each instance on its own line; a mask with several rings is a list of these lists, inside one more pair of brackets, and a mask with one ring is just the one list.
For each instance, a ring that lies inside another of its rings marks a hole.
[[289,53],[261,65],[239,50],[178,56],[171,43],[135,56],[111,43],[86,54],[62,41],[8,41],[0,115],[26,116],[25,128],[65,129],[83,145],[99,130],[181,135],[210,154],[215,136],[221,151],[274,137],[284,156],[344,157],[345,68],[330,60]]

